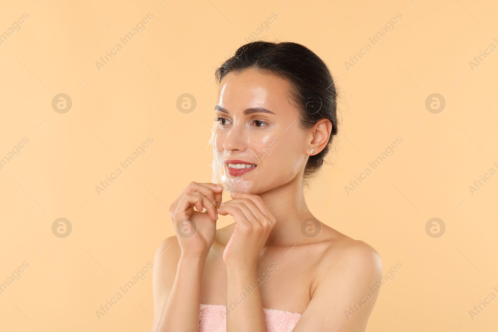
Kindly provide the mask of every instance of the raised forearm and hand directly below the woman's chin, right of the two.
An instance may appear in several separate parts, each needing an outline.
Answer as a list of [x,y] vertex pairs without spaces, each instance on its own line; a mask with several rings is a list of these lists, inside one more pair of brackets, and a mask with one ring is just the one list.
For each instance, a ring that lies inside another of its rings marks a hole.
[[227,266],[227,331],[266,332],[256,263],[275,218],[258,196],[232,193],[232,198],[218,209],[220,215],[231,215],[236,222],[223,253]]

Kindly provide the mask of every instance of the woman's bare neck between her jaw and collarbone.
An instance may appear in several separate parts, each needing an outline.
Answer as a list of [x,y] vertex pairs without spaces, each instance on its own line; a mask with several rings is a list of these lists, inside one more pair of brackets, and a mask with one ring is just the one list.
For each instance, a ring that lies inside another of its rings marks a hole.
[[302,177],[296,176],[285,185],[272,188],[258,196],[276,220],[265,245],[294,245],[303,239],[301,223],[313,215],[304,199]]

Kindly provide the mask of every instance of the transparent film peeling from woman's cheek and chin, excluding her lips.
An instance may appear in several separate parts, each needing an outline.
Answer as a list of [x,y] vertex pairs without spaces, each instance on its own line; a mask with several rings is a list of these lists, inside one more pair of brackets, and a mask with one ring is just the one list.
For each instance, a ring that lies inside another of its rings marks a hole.
[[[215,121],[213,128],[216,128],[218,122]],[[235,159],[238,158],[240,160],[247,161],[251,164],[257,164],[258,158],[257,154],[249,149],[244,151],[240,156],[228,156],[227,151],[224,148],[224,143],[226,143],[220,134],[216,133],[215,129],[211,130],[211,139],[209,140],[209,144],[213,145],[213,162],[211,163],[211,167],[213,168],[213,183],[222,185],[224,188],[224,192],[242,192],[242,193],[250,193],[250,189],[252,187],[252,180],[248,179],[257,176],[258,170],[257,165],[250,170],[250,172],[246,174],[242,174],[239,176],[231,175],[228,172],[228,164],[225,163],[225,159]],[[248,137],[249,141],[249,137]],[[209,147],[209,145],[208,145]],[[241,170],[237,169],[239,172]],[[233,170],[232,170],[233,172]],[[244,172],[244,171],[242,171]]]

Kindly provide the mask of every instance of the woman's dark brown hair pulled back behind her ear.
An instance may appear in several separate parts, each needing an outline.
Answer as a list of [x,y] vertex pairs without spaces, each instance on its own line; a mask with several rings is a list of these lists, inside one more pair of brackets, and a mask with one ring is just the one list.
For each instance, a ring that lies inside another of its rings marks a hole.
[[309,157],[304,177],[309,178],[323,165],[330,150],[333,135],[338,133],[337,93],[329,68],[318,55],[306,46],[293,42],[253,41],[242,45],[235,55],[216,70],[218,84],[230,72],[248,69],[272,73],[286,79],[291,85],[291,100],[301,110],[299,124],[313,127],[318,120],[332,122],[332,132],[325,148]]

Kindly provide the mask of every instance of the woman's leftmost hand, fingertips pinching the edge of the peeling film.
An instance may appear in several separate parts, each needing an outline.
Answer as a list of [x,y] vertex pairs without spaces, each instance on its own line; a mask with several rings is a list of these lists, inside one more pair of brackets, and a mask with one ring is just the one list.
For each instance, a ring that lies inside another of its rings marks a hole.
[[214,183],[191,182],[169,207],[182,254],[207,254],[213,245],[222,192]]

